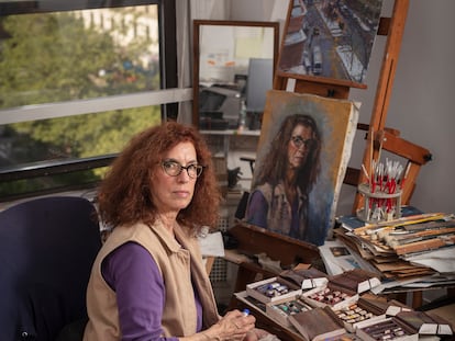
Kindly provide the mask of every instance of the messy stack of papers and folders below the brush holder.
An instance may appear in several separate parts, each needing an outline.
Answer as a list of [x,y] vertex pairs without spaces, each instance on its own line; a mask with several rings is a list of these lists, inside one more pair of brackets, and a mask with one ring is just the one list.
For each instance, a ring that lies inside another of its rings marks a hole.
[[[336,242],[345,245],[357,263],[364,262],[359,268],[371,271],[365,266],[367,262],[381,273],[384,282],[387,282],[382,288],[412,283],[424,286],[453,283],[454,215],[411,214],[393,221],[363,225],[355,217],[344,217],[339,221],[341,228],[334,230]],[[321,255],[324,258],[323,250]],[[340,265],[341,260],[335,264]],[[333,269],[333,265],[329,268]]]

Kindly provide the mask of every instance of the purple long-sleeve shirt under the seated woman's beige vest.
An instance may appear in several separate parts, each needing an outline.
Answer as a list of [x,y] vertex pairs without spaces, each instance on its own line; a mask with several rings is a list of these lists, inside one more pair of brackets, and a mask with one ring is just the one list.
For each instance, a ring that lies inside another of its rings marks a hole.
[[[106,258],[101,273],[116,294],[122,340],[178,340],[162,337],[165,285],[155,260],[145,248],[135,242],[122,245]],[[196,289],[195,300],[200,331],[202,307]]]

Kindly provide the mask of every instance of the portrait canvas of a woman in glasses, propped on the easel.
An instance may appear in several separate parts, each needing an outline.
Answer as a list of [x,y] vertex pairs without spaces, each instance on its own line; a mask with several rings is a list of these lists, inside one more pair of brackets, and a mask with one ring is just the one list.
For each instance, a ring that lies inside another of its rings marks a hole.
[[323,245],[357,121],[352,101],[268,91],[245,221]]

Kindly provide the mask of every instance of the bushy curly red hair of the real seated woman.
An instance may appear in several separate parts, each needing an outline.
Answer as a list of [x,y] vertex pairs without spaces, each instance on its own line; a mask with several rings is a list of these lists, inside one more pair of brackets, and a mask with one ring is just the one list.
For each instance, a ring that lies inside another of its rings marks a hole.
[[215,226],[221,194],[211,152],[195,127],[175,122],[140,133],[114,160],[98,192],[99,214],[104,224],[115,228],[138,221],[155,223],[152,178],[160,170],[164,154],[184,141],[193,144],[198,163],[204,169],[196,181],[191,203],[179,212],[177,220],[191,229]]

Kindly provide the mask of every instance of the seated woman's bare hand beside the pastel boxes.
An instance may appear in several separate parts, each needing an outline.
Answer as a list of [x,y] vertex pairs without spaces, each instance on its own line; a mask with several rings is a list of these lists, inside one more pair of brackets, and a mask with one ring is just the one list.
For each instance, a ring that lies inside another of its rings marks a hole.
[[[206,341],[244,340],[254,330],[256,318],[240,310],[229,311],[215,325],[204,330]],[[248,340],[248,339],[245,339]],[[253,339],[251,339],[253,341]]]

